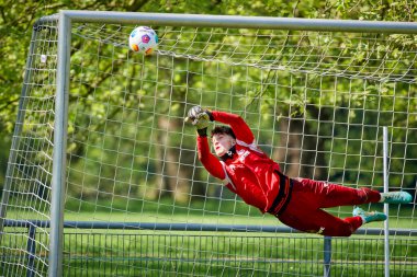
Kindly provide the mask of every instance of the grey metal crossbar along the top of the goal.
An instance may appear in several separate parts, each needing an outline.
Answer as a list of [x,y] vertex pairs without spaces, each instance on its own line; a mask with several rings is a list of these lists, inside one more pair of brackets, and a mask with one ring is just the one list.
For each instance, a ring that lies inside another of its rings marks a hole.
[[49,21],[68,18],[71,22],[114,23],[114,24],[157,24],[191,27],[267,28],[326,32],[367,32],[417,34],[417,22],[320,20],[300,18],[270,18],[243,15],[207,14],[167,14],[113,11],[63,10],[59,15],[49,15],[40,20]]

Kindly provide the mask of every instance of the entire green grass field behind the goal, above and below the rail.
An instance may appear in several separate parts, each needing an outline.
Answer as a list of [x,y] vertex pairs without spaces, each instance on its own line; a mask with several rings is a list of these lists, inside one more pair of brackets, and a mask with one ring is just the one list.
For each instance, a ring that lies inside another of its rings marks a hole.
[[[371,208],[382,210],[381,206]],[[331,212],[347,217],[351,208],[338,208]],[[392,228],[417,229],[413,209],[392,207],[390,215]],[[8,218],[22,219],[22,216],[26,219],[46,218],[30,210],[8,212]],[[124,203],[69,203],[65,220],[282,224],[274,217],[262,216],[244,204],[207,201],[181,206],[169,200],[127,207]],[[383,228],[383,223],[368,227]],[[24,252],[27,230],[13,231],[22,233],[7,236],[9,245],[0,253],[7,267],[0,269],[0,276],[1,270],[8,270],[8,274],[14,270],[21,275],[30,268]],[[65,276],[323,276],[325,268],[324,238],[316,234],[65,229],[64,238]],[[417,238],[391,238],[391,276],[415,277]],[[42,245],[48,244],[48,238],[40,230],[36,242],[38,261],[35,259],[34,269],[42,276],[48,258]],[[331,276],[383,276],[383,235],[334,238],[329,264]],[[18,261],[16,265],[13,259]]]

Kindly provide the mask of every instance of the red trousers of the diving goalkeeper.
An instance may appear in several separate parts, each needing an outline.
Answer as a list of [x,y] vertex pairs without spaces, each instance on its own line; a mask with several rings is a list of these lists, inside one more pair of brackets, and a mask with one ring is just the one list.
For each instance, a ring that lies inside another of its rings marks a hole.
[[277,216],[284,224],[300,231],[331,236],[349,236],[362,226],[361,217],[340,219],[322,208],[377,203],[381,195],[370,188],[350,188],[307,178],[293,181],[291,200]]

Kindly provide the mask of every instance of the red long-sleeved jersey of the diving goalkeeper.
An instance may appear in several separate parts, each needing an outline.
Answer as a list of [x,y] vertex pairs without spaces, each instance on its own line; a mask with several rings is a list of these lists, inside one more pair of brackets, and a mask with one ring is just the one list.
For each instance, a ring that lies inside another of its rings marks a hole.
[[227,124],[236,136],[235,151],[222,161],[210,151],[207,137],[198,138],[199,159],[214,177],[262,212],[277,213],[286,203],[290,180],[280,166],[256,145],[253,134],[245,120],[235,114],[212,112],[213,119]]

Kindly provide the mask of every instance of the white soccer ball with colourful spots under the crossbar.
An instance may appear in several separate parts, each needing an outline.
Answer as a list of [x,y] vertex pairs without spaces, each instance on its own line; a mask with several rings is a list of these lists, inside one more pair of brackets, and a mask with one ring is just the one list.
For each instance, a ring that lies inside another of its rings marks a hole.
[[150,55],[158,47],[158,35],[151,27],[136,27],[128,36],[128,46],[134,51]]

